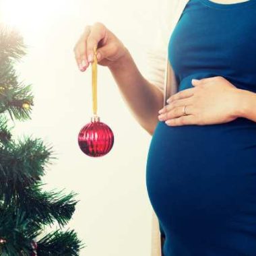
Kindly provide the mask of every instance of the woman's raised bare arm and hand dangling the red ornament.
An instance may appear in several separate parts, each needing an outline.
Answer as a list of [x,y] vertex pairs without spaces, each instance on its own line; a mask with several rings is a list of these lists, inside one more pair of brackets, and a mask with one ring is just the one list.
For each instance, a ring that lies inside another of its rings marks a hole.
[[100,22],[86,26],[73,48],[80,71],[86,71],[92,63],[90,55],[97,44],[98,64],[110,69],[131,113],[152,135],[158,123],[158,110],[162,108],[163,92],[141,75],[128,49]]

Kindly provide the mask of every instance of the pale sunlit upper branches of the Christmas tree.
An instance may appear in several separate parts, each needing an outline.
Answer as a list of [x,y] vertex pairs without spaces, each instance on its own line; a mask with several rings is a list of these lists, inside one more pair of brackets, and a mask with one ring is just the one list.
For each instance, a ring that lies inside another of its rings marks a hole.
[[[8,111],[11,119],[30,119],[33,96],[31,85],[18,82],[13,65],[26,54],[26,45],[17,30],[0,25],[0,113]],[[26,108],[24,108],[24,103]]]

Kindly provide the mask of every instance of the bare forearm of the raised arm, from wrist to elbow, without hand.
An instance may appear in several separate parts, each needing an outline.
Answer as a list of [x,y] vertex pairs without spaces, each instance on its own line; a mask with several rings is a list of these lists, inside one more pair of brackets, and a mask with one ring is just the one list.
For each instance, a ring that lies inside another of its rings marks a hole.
[[133,116],[152,135],[158,123],[158,110],[163,106],[163,92],[141,75],[128,50],[109,69]]

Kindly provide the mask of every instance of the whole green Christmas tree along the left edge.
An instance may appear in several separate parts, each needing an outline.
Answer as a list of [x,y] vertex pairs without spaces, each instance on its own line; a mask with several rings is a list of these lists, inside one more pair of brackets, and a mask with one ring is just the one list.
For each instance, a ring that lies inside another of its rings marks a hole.
[[[43,190],[41,177],[53,150],[31,136],[13,139],[10,121],[30,119],[31,85],[18,81],[15,62],[27,46],[14,28],[0,24],[0,255],[79,255],[82,242],[63,230],[75,211],[75,193]],[[47,226],[57,228],[46,234]]]

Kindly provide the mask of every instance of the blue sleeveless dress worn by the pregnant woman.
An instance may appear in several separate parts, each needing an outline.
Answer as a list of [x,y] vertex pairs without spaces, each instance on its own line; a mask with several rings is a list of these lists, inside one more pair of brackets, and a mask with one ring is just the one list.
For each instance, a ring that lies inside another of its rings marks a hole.
[[[168,59],[178,91],[193,88],[192,78],[220,75],[256,92],[256,0],[190,0],[170,36]],[[146,186],[165,236],[163,256],[256,255],[254,121],[177,127],[159,121]]]

